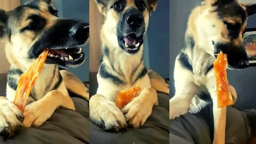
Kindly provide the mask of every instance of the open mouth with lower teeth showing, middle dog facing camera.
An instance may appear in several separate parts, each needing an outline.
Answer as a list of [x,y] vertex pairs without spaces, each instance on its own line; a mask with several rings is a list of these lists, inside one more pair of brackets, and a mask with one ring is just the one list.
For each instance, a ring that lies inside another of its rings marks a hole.
[[143,44],[143,35],[137,37],[136,34],[129,34],[126,37],[120,37],[118,43],[127,53],[135,54],[140,51],[140,46]]

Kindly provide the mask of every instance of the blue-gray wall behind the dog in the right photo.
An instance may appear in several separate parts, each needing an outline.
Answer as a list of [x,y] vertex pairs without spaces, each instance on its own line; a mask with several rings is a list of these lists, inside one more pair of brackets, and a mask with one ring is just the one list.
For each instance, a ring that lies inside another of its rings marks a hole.
[[[183,47],[187,20],[190,11],[201,5],[201,0],[172,1],[170,4],[170,95],[175,93],[173,70],[174,61],[181,47]],[[256,27],[256,15],[249,18],[247,27]],[[243,70],[228,70],[229,84],[237,90],[238,99],[235,106],[241,109],[256,108],[256,68],[250,67]]]

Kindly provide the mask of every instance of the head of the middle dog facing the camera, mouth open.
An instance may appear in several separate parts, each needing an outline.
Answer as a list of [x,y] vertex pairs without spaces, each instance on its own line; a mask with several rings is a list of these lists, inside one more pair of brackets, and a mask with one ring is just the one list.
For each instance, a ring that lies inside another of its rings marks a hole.
[[105,16],[105,33],[113,37],[114,46],[129,54],[140,51],[149,15],[157,0],[95,0]]

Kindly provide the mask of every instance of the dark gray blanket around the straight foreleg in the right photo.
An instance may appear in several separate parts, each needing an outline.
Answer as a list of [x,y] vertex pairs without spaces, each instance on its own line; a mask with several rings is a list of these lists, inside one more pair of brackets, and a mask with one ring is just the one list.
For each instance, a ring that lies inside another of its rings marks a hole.
[[[203,102],[198,108],[170,120],[170,143],[211,144],[213,141],[212,104]],[[256,110],[227,107],[225,143],[245,144],[256,134]]]

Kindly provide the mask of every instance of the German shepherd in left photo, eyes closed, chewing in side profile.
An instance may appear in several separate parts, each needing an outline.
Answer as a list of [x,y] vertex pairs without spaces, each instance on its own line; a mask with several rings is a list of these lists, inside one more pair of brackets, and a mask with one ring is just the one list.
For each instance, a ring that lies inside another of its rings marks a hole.
[[[0,97],[0,132],[10,133],[10,127],[21,124],[41,126],[58,107],[75,110],[67,89],[89,99],[82,82],[58,68],[81,65],[85,54],[78,47],[88,38],[89,24],[58,18],[50,0],[31,1],[8,12],[0,10],[0,39],[11,63],[6,97]],[[50,53],[22,114],[12,102],[19,78],[44,49]]]

